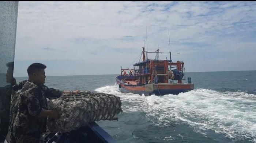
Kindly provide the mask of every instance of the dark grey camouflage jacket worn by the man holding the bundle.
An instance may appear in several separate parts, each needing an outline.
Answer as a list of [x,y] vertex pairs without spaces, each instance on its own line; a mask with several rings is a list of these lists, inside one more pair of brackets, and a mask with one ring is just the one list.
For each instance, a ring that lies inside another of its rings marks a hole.
[[46,131],[46,117],[38,117],[42,108],[48,110],[46,98],[58,98],[63,91],[48,88],[44,84],[36,85],[27,81],[18,96],[18,111],[16,113],[14,134],[29,134],[35,137]]

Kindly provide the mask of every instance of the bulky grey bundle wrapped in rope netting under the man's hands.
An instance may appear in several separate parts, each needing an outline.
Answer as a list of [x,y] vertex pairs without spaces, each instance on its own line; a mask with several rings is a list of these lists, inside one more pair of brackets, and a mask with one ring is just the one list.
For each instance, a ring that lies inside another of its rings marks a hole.
[[117,120],[117,114],[122,112],[120,97],[90,91],[77,95],[63,94],[49,100],[48,108],[59,112],[59,119],[48,118],[50,132],[77,130],[99,120]]

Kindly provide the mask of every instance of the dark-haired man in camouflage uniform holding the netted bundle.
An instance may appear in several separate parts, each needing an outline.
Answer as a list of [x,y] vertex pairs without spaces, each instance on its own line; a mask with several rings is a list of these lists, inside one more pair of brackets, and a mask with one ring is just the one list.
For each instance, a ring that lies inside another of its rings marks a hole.
[[[46,131],[46,119],[58,118],[58,112],[48,110],[46,98],[58,98],[63,93],[72,91],[61,91],[48,88],[45,83],[46,65],[33,63],[27,69],[29,80],[25,82],[22,90],[17,93],[18,110],[16,116],[12,117],[12,136],[16,143],[40,143],[41,135]],[[74,91],[77,94],[79,91]],[[14,106],[15,107],[15,106]],[[13,114],[14,115],[14,114]]]

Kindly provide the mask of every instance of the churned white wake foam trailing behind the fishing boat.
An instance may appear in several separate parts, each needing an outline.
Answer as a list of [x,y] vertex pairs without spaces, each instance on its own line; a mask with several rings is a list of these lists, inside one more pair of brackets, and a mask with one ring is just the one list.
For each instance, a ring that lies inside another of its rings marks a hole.
[[118,86],[95,91],[120,96],[125,112],[145,112],[157,126],[183,121],[204,135],[204,130],[210,129],[233,140],[256,142],[256,96],[253,94],[196,89],[179,95],[140,96],[122,94]]

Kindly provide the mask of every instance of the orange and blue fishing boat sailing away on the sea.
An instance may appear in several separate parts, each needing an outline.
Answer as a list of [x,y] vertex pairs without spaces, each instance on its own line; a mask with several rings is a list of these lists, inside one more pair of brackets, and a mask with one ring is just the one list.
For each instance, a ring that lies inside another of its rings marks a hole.
[[[121,93],[133,93],[149,95],[179,94],[194,89],[191,78],[187,82],[183,61],[172,62],[171,52],[145,51],[142,47],[143,61],[133,64],[133,69],[122,69],[121,74],[116,76]],[[146,52],[146,54],[145,54]],[[155,59],[148,59],[148,53],[155,53]],[[168,54],[170,59],[160,60],[159,53]]]

